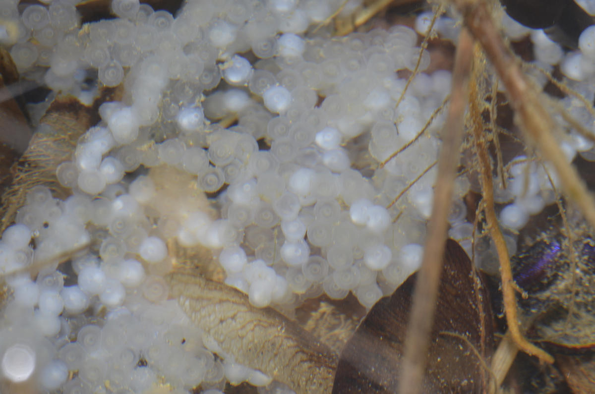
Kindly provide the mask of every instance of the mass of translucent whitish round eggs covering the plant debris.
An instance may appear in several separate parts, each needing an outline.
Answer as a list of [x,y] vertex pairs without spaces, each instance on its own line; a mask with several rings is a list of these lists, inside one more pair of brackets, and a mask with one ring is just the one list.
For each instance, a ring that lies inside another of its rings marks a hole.
[[[226,380],[290,392],[221,354],[168,300],[170,242],[214,251],[225,282],[255,307],[353,292],[371,308],[417,270],[450,72],[424,73],[431,59],[419,43],[431,12],[415,30],[333,38],[314,29],[360,3],[189,0],[174,17],[112,0],[118,18],[81,27],[73,1],[19,13],[16,1],[0,0],[0,43],[21,74],[87,102],[97,93],[88,76],[124,90],[57,167],[72,195],[35,187],[2,234],[0,271],[12,290],[0,326],[5,379],[64,393],[105,392],[105,382],[142,393],[160,377],[180,393],[199,384],[220,392]],[[591,75],[577,64],[594,56],[595,30],[581,36],[581,52],[564,55],[543,32],[506,17],[503,25],[512,39],[531,34],[536,65]],[[446,39],[458,32],[445,16],[434,29]],[[595,85],[581,86],[592,102]],[[562,143],[569,160],[595,157],[578,135]],[[522,159],[506,189],[496,187],[498,202],[513,201],[500,213],[511,230],[557,186],[547,165]],[[180,180],[187,187],[174,189]],[[466,175],[456,179],[449,217],[450,236],[468,251],[470,187]],[[58,267],[64,256],[72,258]],[[31,264],[44,267],[36,278],[22,274]]]

